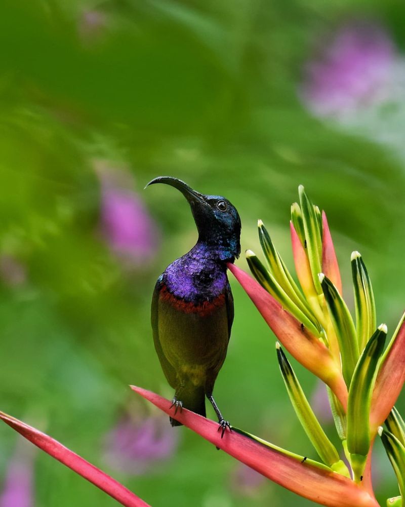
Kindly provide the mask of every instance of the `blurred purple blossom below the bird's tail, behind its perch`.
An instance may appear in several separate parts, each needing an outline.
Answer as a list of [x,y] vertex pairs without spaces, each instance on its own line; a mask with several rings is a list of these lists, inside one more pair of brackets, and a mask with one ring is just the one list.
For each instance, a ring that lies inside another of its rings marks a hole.
[[120,472],[142,475],[174,454],[178,433],[161,414],[144,419],[127,415],[107,436],[106,460]]

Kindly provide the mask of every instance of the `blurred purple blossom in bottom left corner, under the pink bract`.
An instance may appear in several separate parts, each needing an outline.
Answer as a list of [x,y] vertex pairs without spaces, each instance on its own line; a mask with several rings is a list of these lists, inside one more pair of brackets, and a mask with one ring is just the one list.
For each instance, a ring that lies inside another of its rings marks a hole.
[[33,465],[36,448],[19,438],[0,494],[0,507],[33,507]]

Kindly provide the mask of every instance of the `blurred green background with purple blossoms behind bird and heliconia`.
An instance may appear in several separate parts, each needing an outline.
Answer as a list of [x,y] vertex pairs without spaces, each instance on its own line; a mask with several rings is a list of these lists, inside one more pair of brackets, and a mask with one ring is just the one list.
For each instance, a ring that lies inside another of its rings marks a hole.
[[[289,211],[304,184],[327,212],[349,304],[358,249],[393,331],[405,292],[403,19],[400,0],[3,0],[0,409],[154,507],[310,505],[131,394],[172,396],[150,300],[196,240],[179,192],[142,189],[171,175],[225,195],[242,252],[259,253],[262,219],[292,269]],[[231,284],[215,399],[233,425],[316,458],[275,338]],[[336,442],[322,386],[292,362]],[[116,505],[21,440],[0,426],[1,507]],[[379,443],[375,453],[385,504],[397,486]]]

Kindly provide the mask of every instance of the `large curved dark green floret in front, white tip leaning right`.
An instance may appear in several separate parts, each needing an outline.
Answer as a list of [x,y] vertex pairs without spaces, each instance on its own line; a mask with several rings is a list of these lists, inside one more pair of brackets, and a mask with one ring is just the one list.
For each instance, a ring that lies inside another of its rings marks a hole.
[[361,480],[370,449],[370,405],[378,366],[387,337],[381,324],[365,346],[353,373],[347,403],[347,449],[356,481]]

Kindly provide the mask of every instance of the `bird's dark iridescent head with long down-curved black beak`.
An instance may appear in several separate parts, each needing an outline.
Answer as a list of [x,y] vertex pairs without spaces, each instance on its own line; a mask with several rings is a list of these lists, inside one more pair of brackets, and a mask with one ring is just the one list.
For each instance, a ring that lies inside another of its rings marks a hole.
[[239,213],[228,199],[218,195],[196,192],[180,179],[159,176],[146,185],[165,183],[179,190],[189,201],[199,235],[199,241],[216,248],[219,258],[232,261],[240,254]]

